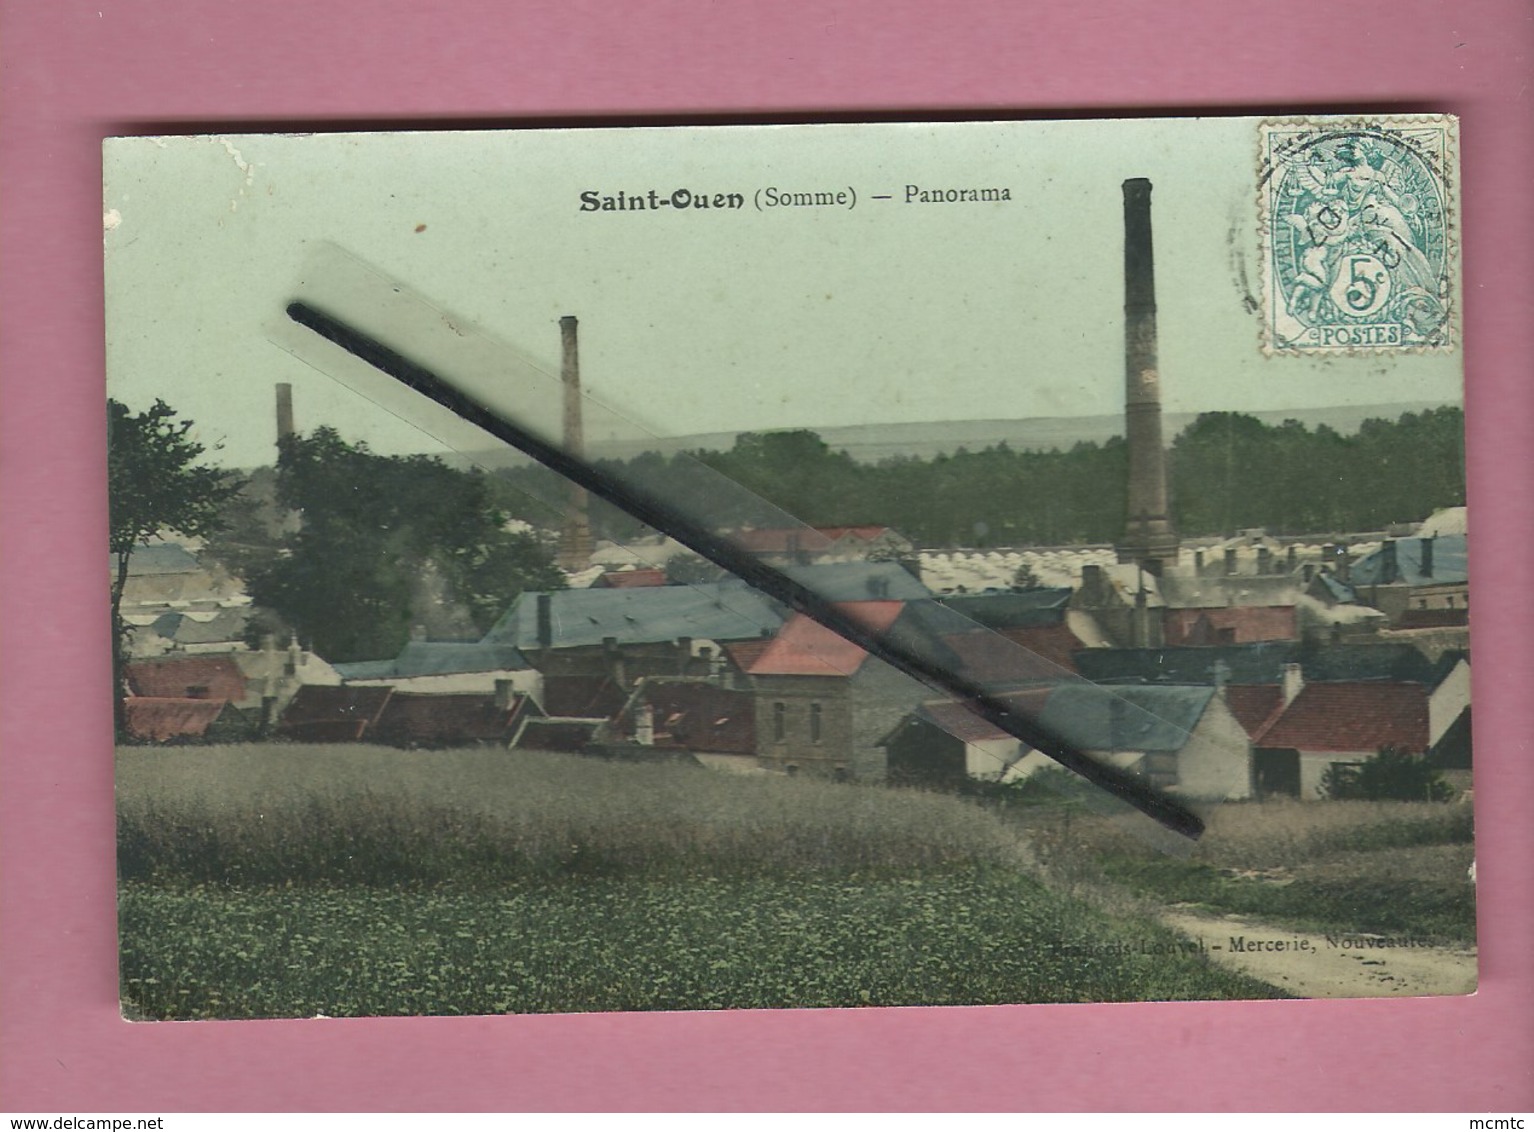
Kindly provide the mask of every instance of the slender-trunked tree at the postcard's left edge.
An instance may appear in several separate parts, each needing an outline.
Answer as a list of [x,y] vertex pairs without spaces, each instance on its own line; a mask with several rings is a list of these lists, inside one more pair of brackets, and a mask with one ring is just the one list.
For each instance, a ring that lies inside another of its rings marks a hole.
[[112,554],[112,686],[118,735],[127,730],[124,703],[130,629],[123,620],[133,551],[150,538],[178,534],[207,538],[222,529],[222,508],[239,492],[239,477],[199,465],[207,451],[192,437],[193,423],[155,400],[143,413],[130,413],[117,400],[106,403],[107,503]]

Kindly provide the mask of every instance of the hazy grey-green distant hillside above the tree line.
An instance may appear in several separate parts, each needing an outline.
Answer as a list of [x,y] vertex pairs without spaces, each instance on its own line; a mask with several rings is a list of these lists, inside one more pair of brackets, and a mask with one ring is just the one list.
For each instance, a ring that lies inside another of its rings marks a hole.
[[[1402,413],[1420,413],[1437,408],[1439,402],[1396,402],[1390,405],[1342,405],[1313,410],[1273,410],[1250,413],[1264,425],[1281,425],[1299,420],[1309,428],[1328,425],[1338,433],[1356,433],[1358,426],[1371,419],[1396,420]],[[1166,443],[1198,419],[1197,413],[1167,413],[1163,416]],[[808,426],[813,428],[813,426]],[[778,429],[784,431],[784,429]],[[1029,417],[1025,420],[940,420],[907,422],[896,425],[851,425],[838,428],[813,428],[831,451],[845,451],[861,463],[877,463],[896,456],[930,460],[934,456],[954,452],[959,448],[979,451],[1003,440],[1016,451],[1049,451],[1071,448],[1088,440],[1103,443],[1123,436],[1124,417],[1118,413],[1092,417]],[[696,433],[693,436],[664,437],[655,440],[609,442],[592,456],[627,460],[640,452],[658,451],[670,456],[687,449],[729,451],[736,433]],[[483,466],[511,466],[526,463],[515,452],[474,452],[474,460]]]

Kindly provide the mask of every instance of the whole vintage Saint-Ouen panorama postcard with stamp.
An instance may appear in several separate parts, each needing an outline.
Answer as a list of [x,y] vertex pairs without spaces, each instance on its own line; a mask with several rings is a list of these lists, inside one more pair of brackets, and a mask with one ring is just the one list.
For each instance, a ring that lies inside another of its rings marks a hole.
[[1456,156],[107,140],[124,1017],[1473,992]]

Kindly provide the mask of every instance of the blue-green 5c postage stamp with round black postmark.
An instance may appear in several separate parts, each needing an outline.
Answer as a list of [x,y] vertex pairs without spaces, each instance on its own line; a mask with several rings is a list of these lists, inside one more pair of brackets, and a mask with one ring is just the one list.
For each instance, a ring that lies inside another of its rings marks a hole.
[[1266,353],[1454,345],[1456,126],[1447,115],[1261,123]]

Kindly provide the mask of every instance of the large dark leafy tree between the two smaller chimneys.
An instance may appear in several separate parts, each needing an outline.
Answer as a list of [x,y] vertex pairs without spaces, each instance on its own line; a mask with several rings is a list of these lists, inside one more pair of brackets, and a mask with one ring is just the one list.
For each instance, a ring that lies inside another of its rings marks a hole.
[[250,594],[327,660],[393,656],[414,624],[477,637],[522,591],[565,584],[483,474],[436,457],[377,456],[319,428],[282,442],[278,500],[299,529]]

